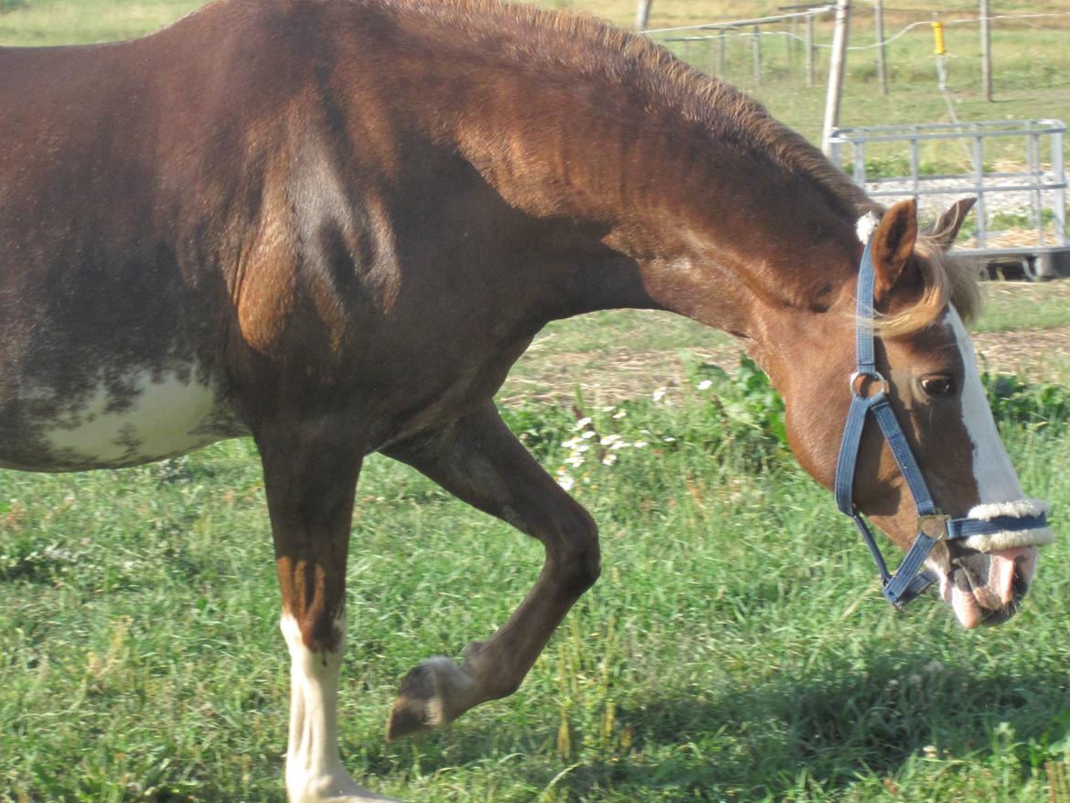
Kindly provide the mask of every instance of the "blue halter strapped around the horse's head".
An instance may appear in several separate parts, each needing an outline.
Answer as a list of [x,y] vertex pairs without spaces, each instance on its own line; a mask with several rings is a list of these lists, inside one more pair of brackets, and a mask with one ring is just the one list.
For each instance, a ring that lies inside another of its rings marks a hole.
[[[836,504],[842,513],[851,516],[862,541],[869,548],[877,571],[881,573],[881,585],[884,587],[884,597],[895,607],[901,608],[924,591],[936,580],[936,576],[924,569],[926,558],[941,541],[965,539],[972,535],[993,535],[997,532],[1018,532],[1045,527],[1048,521],[1043,513],[1034,516],[996,516],[991,520],[975,518],[951,518],[944,515],[933,503],[929,487],[921,476],[921,469],[911,452],[910,443],[903,434],[896,413],[888,398],[888,382],[876,369],[876,358],[873,348],[873,286],[875,282],[873,269],[873,237],[866,244],[861,266],[858,269],[858,299],[856,330],[857,370],[851,375],[851,409],[843,427],[843,440],[840,442],[840,457],[836,466]],[[873,395],[866,395],[867,390],[876,389]],[[858,461],[858,446],[861,442],[866,418],[872,412],[884,434],[891,454],[899,464],[899,470],[906,481],[914,506],[918,513],[918,535],[903,558],[896,574],[888,572],[884,556],[873,539],[861,513],[854,504],[853,485],[855,465]]]

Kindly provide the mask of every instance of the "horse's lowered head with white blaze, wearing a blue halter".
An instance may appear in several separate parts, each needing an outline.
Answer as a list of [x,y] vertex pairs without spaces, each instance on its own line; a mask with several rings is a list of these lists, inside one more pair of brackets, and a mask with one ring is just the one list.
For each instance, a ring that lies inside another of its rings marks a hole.
[[[926,233],[913,200],[865,216],[858,251],[869,243],[860,260],[869,259],[872,289],[846,283],[777,360],[799,461],[836,490],[863,536],[860,513],[908,557],[922,541],[916,562],[920,569],[924,560],[965,627],[1013,616],[1036,571],[1037,547],[1053,537],[1048,505],[1023,494],[981,384],[963,322],[978,306],[975,277],[946,256],[972,207],[956,203]],[[872,368],[859,367],[865,342],[872,344]],[[883,421],[867,415],[878,397],[890,411]],[[856,414],[857,454],[844,469],[851,449],[843,431]],[[931,501],[919,499],[927,496]]]

